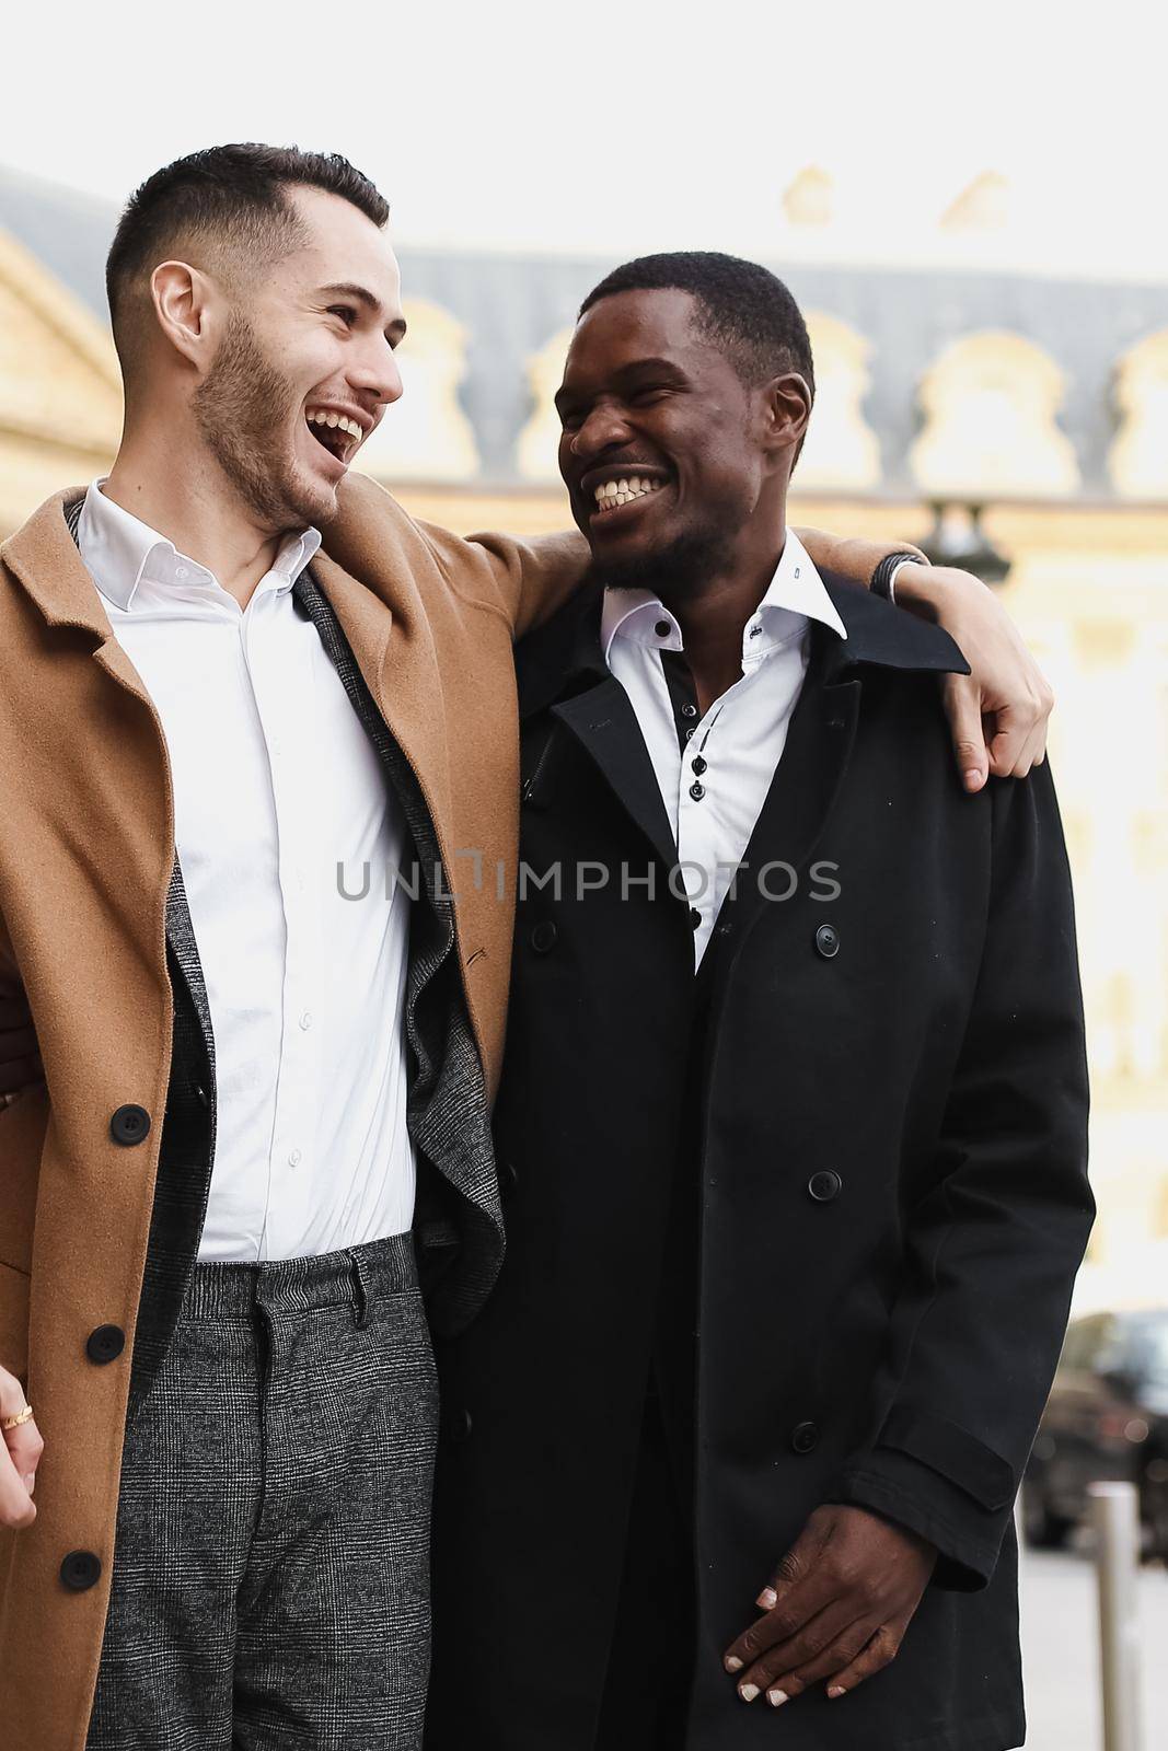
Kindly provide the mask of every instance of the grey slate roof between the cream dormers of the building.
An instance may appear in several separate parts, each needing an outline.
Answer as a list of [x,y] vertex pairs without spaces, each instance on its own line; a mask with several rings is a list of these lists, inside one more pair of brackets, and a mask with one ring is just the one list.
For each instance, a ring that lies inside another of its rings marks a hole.
[[[56,184],[0,168],[0,226],[19,238],[100,317],[103,259],[117,212]],[[462,406],[475,427],[483,480],[517,478],[515,441],[531,413],[527,361],[571,324],[580,299],[615,259],[520,257],[401,249],[406,296],[429,298],[468,329]],[[1107,499],[1115,432],[1114,371],[1145,334],[1168,327],[1163,285],[1059,282],[1003,273],[809,268],[783,275],[799,301],[825,310],[872,343],[865,418],[881,440],[888,496],[916,496],[907,450],[919,425],[916,385],[940,350],[982,327],[1012,329],[1045,348],[1066,375],[1059,424],[1082,492]]]

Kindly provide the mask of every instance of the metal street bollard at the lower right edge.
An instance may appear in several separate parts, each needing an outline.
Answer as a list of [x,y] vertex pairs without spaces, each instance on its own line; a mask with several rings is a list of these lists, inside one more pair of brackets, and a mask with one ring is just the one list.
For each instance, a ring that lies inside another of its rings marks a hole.
[[1133,1483],[1093,1483],[1100,1583],[1105,1751],[1143,1751],[1140,1709],[1140,1499]]

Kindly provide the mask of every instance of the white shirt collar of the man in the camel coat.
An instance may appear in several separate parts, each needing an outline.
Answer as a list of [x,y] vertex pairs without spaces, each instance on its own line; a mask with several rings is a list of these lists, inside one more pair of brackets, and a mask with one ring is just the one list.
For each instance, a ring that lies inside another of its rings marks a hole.
[[[142,585],[154,585],[152,590],[142,592],[151,595],[154,608],[163,595],[186,601],[193,595],[205,597],[208,592],[226,595],[214,573],[179,553],[173,541],[159,536],[114,499],[107,499],[103,485],[105,480],[95,480],[86,492],[77,541],[93,581],[107,601],[130,613]],[[271,567],[280,580],[278,590],[292,588],[319,546],[319,529],[284,538]]]

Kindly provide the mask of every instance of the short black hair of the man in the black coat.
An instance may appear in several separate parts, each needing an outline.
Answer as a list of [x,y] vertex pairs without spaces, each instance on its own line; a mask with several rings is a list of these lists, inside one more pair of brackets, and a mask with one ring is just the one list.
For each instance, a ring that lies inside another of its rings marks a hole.
[[639,256],[594,285],[580,315],[616,292],[664,291],[692,294],[700,333],[723,347],[744,382],[765,383],[785,371],[799,371],[814,396],[807,324],[783,280],[756,261],[713,249]]

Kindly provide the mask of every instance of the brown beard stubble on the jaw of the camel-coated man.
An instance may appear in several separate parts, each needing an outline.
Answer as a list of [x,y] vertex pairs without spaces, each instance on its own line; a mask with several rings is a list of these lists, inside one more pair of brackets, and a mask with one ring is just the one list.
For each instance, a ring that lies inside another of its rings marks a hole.
[[207,448],[264,529],[284,532],[324,520],[327,504],[280,457],[298,397],[238,312],[191,406]]

